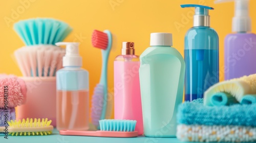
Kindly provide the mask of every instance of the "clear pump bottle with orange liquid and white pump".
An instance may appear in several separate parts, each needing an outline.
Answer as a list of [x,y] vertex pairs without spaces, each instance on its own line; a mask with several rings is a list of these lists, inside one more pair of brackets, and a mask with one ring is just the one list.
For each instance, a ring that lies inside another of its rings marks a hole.
[[89,129],[89,73],[81,68],[76,42],[58,42],[67,45],[63,68],[56,73],[57,130]]

